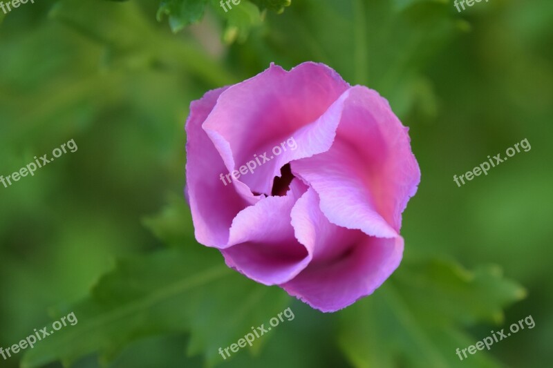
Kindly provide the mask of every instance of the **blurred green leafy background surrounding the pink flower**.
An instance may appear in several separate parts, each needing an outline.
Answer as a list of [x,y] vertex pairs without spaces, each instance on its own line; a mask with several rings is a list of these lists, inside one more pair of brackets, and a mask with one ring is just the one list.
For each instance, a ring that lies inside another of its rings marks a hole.
[[[79,320],[1,367],[551,366],[553,2],[281,2],[0,12],[0,175],[78,146],[0,186],[0,347]],[[194,241],[182,199],[190,101],[309,60],[384,95],[422,171],[402,266],[333,314],[228,271]],[[531,151],[453,182],[525,138]],[[294,320],[255,349],[218,356],[288,306]],[[534,329],[456,356],[529,315]]]

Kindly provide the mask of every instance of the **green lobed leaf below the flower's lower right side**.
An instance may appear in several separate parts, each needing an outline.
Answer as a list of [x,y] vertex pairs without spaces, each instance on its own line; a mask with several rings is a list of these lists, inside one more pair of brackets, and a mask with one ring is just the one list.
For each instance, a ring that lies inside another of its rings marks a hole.
[[[373,296],[340,312],[339,344],[355,367],[463,367],[456,349],[484,337],[463,327],[503,322],[503,307],[524,296],[498,267],[402,264]],[[471,367],[498,366],[484,351],[469,359]]]

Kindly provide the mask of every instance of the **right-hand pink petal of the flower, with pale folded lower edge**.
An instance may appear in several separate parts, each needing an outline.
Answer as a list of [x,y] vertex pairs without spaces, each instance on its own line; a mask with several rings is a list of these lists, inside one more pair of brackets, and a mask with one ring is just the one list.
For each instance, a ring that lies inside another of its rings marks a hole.
[[332,148],[291,165],[319,193],[330,222],[382,238],[397,236],[420,182],[406,128],[385,99],[359,86],[350,89]]

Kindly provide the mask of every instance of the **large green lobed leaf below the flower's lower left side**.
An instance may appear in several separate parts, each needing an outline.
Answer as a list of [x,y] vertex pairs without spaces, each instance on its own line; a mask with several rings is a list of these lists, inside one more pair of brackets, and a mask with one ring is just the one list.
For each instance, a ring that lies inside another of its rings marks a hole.
[[135,256],[118,262],[91,297],[71,309],[77,325],[27,351],[22,367],[71,364],[95,351],[106,363],[134,340],[184,332],[191,334],[188,354],[203,354],[212,365],[223,360],[219,347],[267,323],[289,301],[277,287],[248,280],[226,267],[218,251],[199,244]]

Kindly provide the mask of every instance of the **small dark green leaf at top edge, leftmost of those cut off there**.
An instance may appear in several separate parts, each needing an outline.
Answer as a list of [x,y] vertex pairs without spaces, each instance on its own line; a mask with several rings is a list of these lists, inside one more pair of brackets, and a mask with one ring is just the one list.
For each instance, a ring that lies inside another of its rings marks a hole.
[[161,21],[164,15],[168,15],[171,30],[178,32],[189,24],[200,21],[206,4],[207,0],[164,0],[156,18]]

